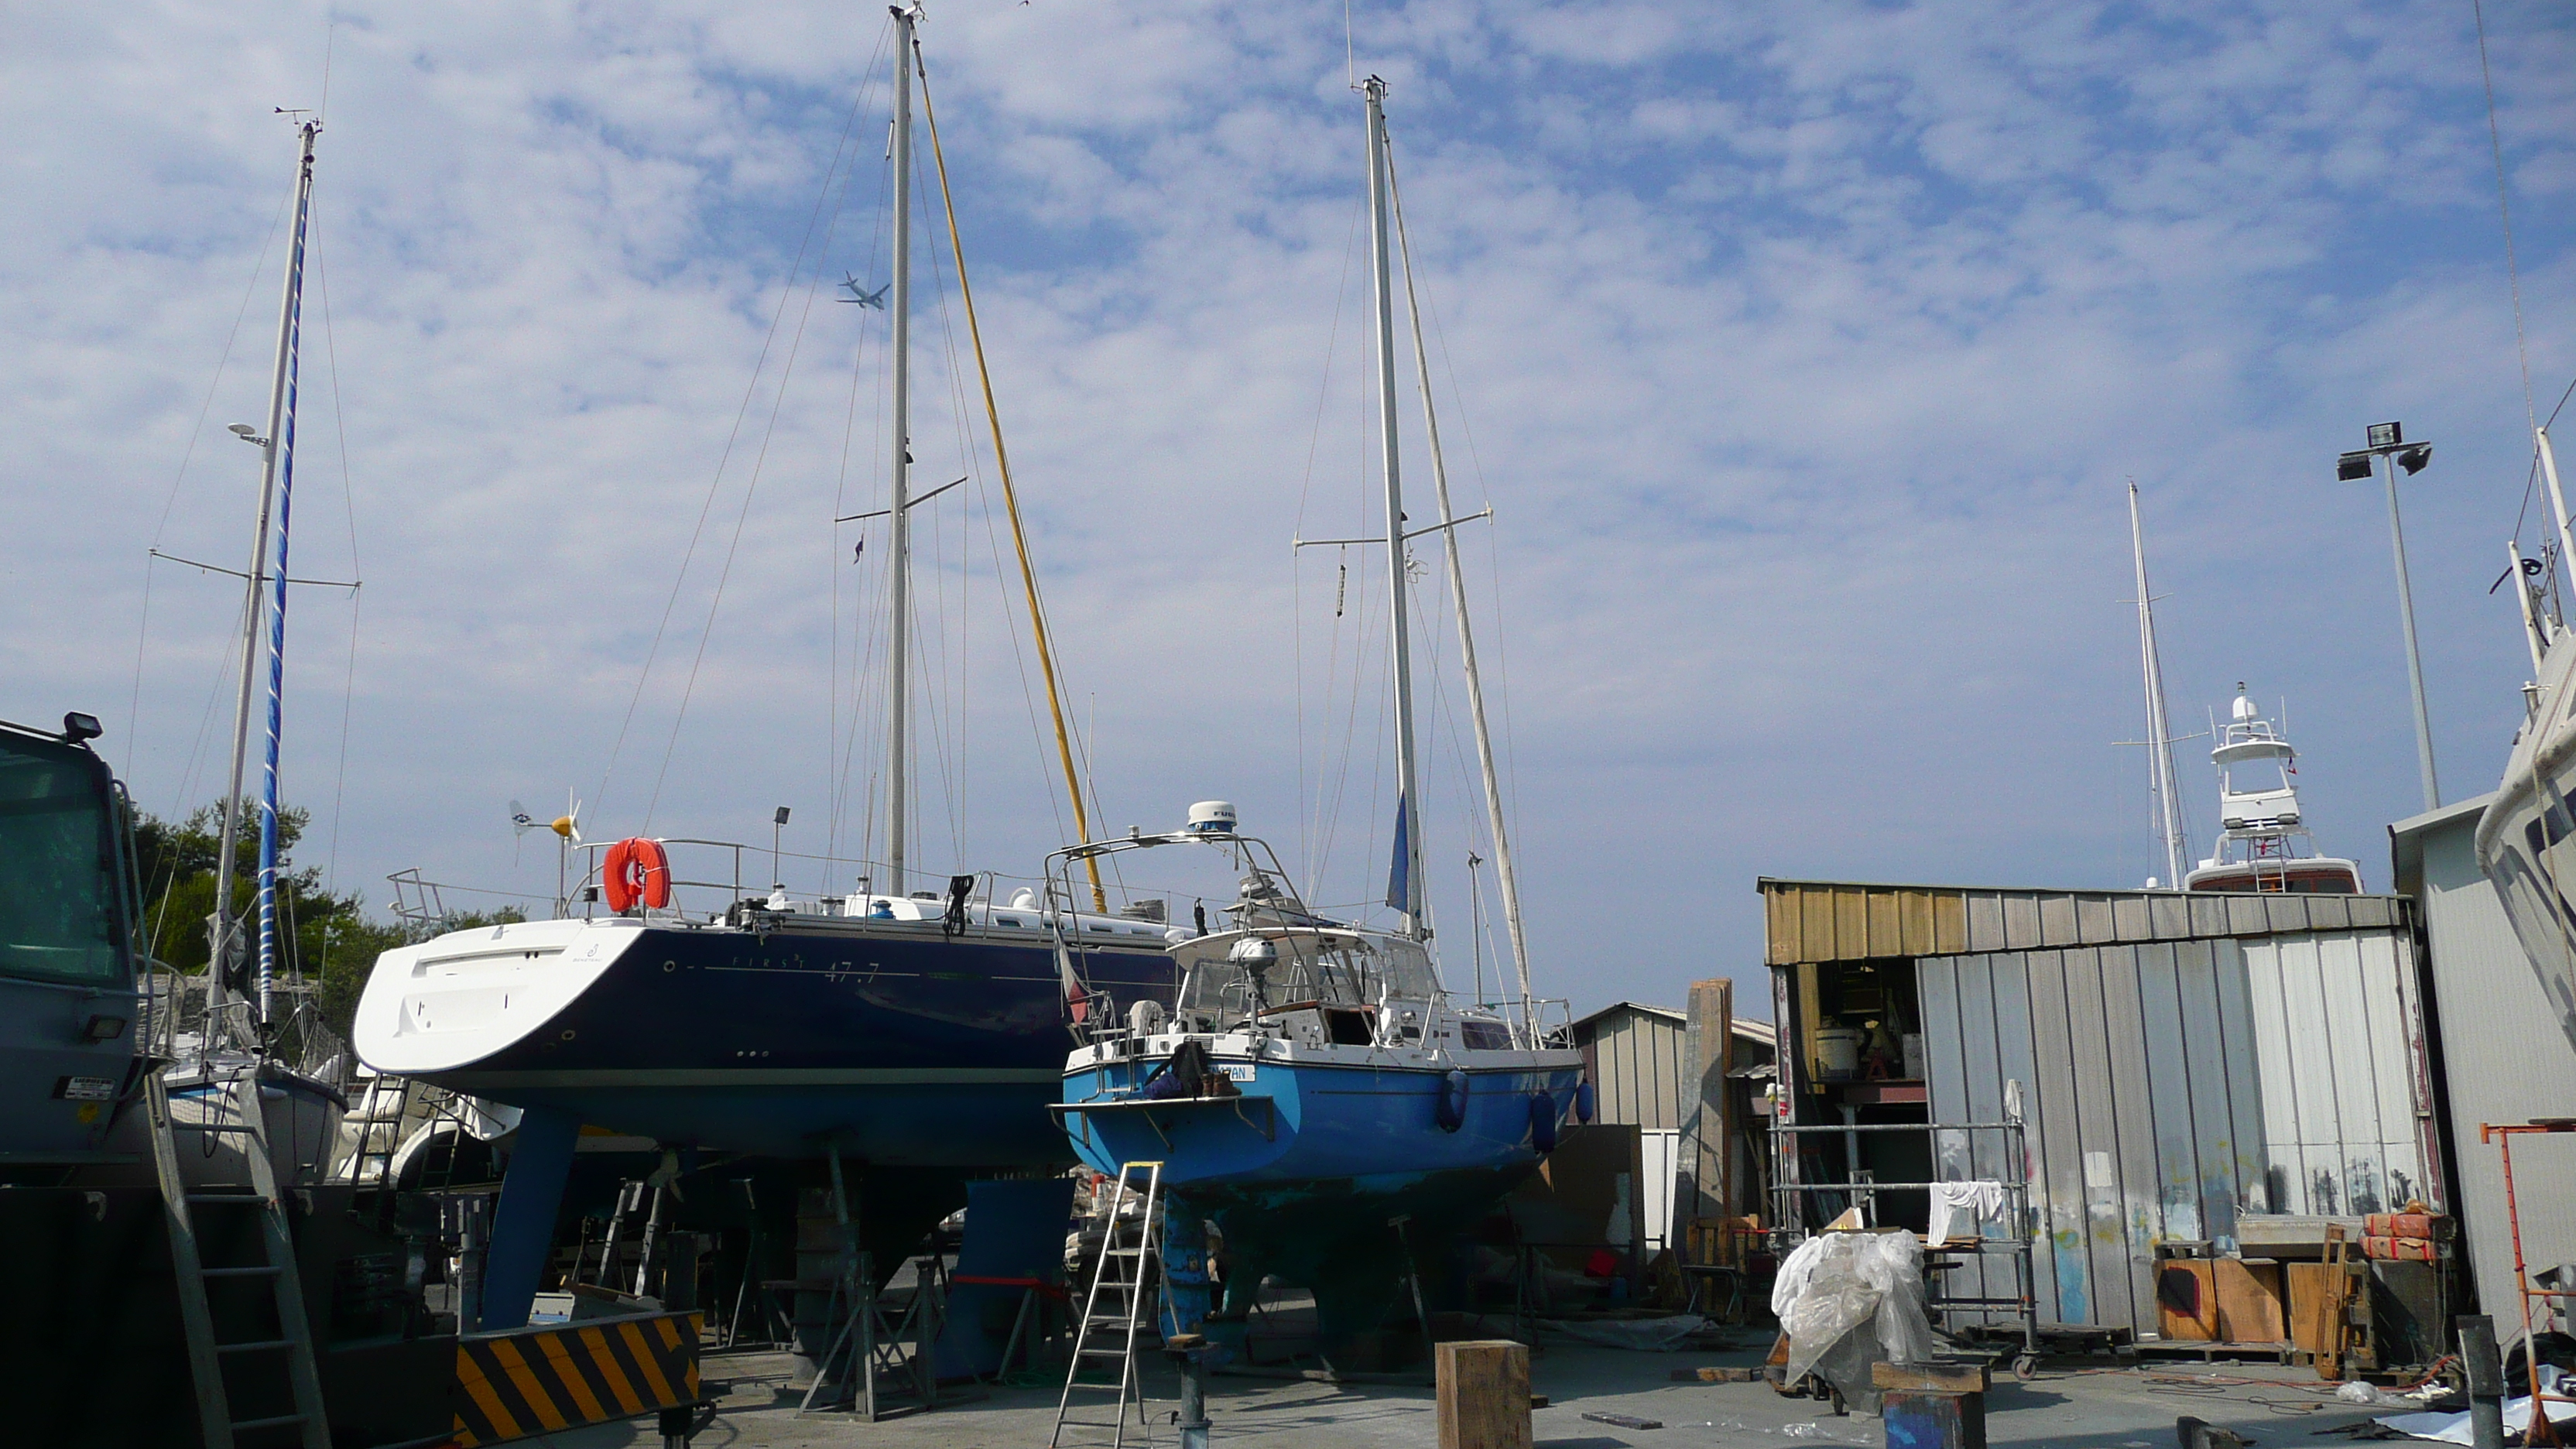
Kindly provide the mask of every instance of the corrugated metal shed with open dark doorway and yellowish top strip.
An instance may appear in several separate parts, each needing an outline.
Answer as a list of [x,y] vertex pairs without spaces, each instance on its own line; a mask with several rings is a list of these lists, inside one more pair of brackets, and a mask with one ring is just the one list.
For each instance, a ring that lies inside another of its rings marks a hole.
[[[2411,902],[1762,879],[1783,1124],[1968,1124],[2022,1104],[2038,1318],[2156,1330],[2166,1243],[2264,1217],[2447,1209]],[[1777,1204],[1999,1181],[1999,1132],[1777,1134]],[[1989,1240],[2014,1230],[2002,1220]],[[1958,1297],[2009,1294],[2002,1258]]]

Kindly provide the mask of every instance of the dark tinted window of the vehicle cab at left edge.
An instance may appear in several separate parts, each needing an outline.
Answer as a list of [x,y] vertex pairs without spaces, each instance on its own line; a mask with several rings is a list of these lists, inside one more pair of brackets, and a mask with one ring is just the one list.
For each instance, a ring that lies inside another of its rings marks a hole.
[[116,833],[85,750],[0,737],[0,975],[121,982]]

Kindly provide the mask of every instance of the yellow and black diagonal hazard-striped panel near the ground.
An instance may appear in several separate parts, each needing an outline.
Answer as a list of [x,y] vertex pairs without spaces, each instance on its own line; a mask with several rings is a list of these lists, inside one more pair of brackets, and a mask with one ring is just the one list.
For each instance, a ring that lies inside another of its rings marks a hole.
[[698,1403],[696,1312],[456,1341],[456,1444],[502,1444]]

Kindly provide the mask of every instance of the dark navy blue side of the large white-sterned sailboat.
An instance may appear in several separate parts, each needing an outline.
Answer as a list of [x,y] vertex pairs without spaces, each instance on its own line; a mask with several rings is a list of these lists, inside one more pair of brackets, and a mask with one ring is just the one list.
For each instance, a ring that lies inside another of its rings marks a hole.
[[[1157,951],[1077,972],[1121,1006],[1172,1000]],[[1072,1160],[1046,1114],[1066,1042],[1043,944],[647,928],[541,1029],[422,1075],[665,1145],[1018,1168]]]

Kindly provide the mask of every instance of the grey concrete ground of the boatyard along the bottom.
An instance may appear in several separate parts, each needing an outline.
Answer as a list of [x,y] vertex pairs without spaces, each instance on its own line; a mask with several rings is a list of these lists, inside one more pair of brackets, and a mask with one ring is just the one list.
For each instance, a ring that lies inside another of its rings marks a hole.
[[[1762,1343],[1767,1346],[1767,1341]],[[1530,1366],[1540,1449],[1654,1449],[1695,1444],[1883,1444],[1878,1418],[1837,1418],[1816,1400],[1775,1395],[1767,1385],[1677,1385],[1682,1366],[1749,1366],[1759,1348],[1734,1354],[1638,1354],[1589,1343],[1543,1343]],[[711,1354],[703,1377],[726,1382],[724,1408],[696,1449],[837,1449],[837,1446],[1030,1446],[1041,1449],[1056,1418],[1061,1377],[1025,1387],[969,1390],[930,1413],[881,1423],[850,1415],[796,1415],[778,1354]],[[2277,1364],[2148,1361],[2146,1366],[2043,1366],[2035,1382],[1999,1379],[1986,1397],[1989,1444],[2066,1449],[2164,1449],[2174,1418],[2195,1415],[2236,1428],[2257,1446],[2339,1444],[2329,1434],[2372,1413],[2336,1403],[2331,1385]],[[1177,1377],[1157,1364],[1146,1379],[1151,1436],[1128,1444],[1170,1446]],[[1662,1428],[1618,1428],[1584,1413],[1662,1421]],[[1216,1444],[1262,1449],[1432,1446],[1432,1390],[1409,1385],[1327,1385],[1221,1374],[1208,1392]],[[1066,1439],[1090,1444],[1092,1439]],[[1100,1444],[1108,1439],[1100,1436]],[[657,1446],[654,1423],[611,1423],[531,1439],[556,1449]]]

